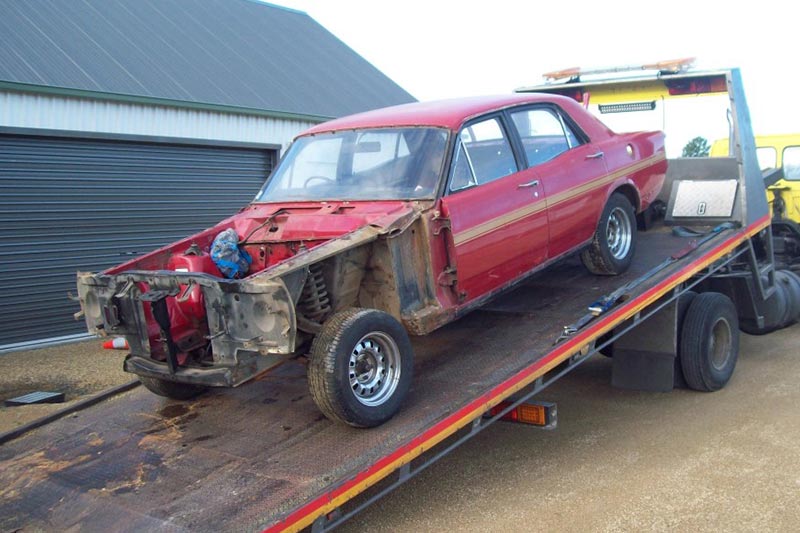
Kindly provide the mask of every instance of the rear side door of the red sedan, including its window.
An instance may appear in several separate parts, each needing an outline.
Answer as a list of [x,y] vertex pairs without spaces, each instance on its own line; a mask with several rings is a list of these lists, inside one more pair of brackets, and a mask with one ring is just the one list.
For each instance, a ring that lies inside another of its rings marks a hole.
[[597,227],[605,202],[598,188],[607,174],[605,154],[556,106],[510,116],[547,198],[549,254],[558,257],[589,240]]

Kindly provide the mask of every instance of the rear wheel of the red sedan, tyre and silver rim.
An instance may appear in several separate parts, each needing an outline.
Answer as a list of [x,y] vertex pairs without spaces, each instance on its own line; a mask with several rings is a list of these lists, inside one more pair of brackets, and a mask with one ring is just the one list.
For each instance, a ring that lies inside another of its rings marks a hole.
[[636,252],[636,212],[628,198],[614,193],[606,202],[591,244],[581,253],[592,274],[616,276],[631,266]]

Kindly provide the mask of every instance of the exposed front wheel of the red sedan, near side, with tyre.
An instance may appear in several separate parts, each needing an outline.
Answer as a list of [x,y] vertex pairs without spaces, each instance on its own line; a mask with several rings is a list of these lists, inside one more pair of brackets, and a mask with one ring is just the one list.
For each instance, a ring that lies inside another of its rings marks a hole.
[[397,320],[375,309],[346,309],[311,344],[308,385],[329,419],[373,427],[400,408],[413,366],[411,341]]

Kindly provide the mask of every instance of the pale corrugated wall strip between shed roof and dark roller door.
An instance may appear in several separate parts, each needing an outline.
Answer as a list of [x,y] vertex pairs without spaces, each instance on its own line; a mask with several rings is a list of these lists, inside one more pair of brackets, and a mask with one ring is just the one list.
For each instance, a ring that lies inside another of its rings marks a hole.
[[301,120],[91,98],[0,91],[0,127],[182,137],[286,148],[317,124]]

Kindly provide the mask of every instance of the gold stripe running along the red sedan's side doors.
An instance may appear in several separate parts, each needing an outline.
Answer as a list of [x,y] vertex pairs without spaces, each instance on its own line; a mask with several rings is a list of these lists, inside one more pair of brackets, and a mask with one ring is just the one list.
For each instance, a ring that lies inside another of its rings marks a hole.
[[[580,196],[593,189],[604,187],[623,176],[643,170],[664,159],[666,159],[666,156],[663,153],[650,156],[647,159],[643,159],[641,161],[628,165],[627,167],[623,167],[609,174],[608,176],[605,176],[604,178],[592,181],[591,183],[586,183],[584,185],[581,185],[580,187],[576,187],[575,189],[556,194],[552,198],[545,198],[545,201],[547,205],[560,204],[562,202],[570,200],[576,196]],[[544,204],[545,202],[538,202],[535,205],[522,207],[520,209],[515,209],[510,213],[506,213],[504,215],[500,215],[499,217],[487,220],[486,222],[482,222],[477,226],[474,226],[472,228],[454,234],[453,242],[455,243],[456,246],[458,246],[460,244],[465,244],[469,241],[475,240],[478,237],[481,237],[487,233],[495,231],[501,226],[504,226],[511,222],[516,222],[517,220],[534,215],[544,210],[545,209]]]

